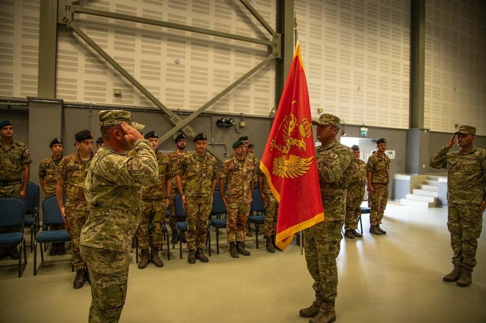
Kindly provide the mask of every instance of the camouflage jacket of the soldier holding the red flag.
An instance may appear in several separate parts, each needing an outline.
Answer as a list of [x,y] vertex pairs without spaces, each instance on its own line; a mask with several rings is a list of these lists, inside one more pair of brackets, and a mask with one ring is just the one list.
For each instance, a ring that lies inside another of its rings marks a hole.
[[317,147],[315,157],[324,207],[324,221],[344,220],[347,187],[353,177],[353,151],[334,140],[325,147]]

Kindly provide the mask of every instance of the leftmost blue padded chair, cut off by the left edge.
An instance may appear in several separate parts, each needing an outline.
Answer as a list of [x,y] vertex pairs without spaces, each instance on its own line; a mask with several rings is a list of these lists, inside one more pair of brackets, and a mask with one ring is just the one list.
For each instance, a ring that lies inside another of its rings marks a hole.
[[[27,265],[27,252],[24,238],[25,201],[17,197],[0,198],[0,227],[16,228],[18,232],[0,233],[0,247],[17,247],[18,277],[21,277]],[[22,267],[22,247],[24,253],[24,266]]]

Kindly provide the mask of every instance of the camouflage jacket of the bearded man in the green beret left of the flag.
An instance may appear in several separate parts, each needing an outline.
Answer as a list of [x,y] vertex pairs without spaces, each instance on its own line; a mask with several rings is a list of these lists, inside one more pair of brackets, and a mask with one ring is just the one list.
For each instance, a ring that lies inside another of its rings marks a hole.
[[224,162],[219,178],[226,178],[228,187],[225,197],[228,202],[250,203],[253,201],[255,165],[245,158],[239,161],[236,157]]

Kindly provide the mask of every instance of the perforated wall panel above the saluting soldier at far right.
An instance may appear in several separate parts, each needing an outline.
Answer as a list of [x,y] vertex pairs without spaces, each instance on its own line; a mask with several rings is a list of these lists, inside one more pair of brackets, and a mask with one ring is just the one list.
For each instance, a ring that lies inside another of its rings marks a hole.
[[486,134],[486,3],[425,2],[425,127]]

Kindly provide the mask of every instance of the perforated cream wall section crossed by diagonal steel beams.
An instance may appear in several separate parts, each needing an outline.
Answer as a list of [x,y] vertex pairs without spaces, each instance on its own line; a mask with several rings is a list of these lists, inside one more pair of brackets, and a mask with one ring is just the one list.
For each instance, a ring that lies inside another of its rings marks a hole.
[[[275,26],[275,0],[252,5]],[[82,6],[271,39],[233,0],[81,1]],[[267,56],[267,47],[94,16],[75,20],[98,45],[171,109],[195,110]],[[153,105],[70,30],[59,29],[56,96],[72,101]],[[268,115],[274,107],[272,62],[209,110]],[[114,96],[113,89],[121,89]]]

